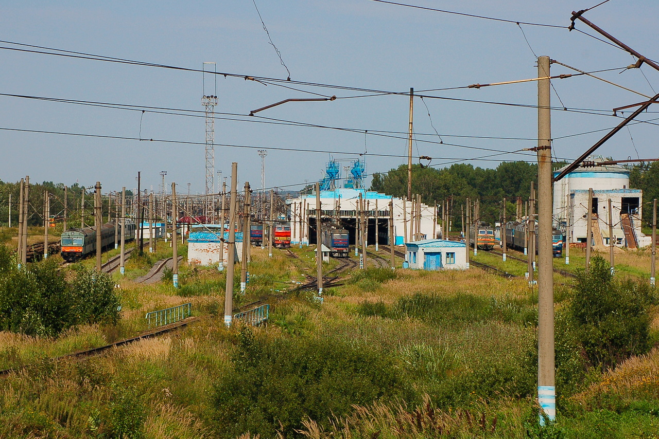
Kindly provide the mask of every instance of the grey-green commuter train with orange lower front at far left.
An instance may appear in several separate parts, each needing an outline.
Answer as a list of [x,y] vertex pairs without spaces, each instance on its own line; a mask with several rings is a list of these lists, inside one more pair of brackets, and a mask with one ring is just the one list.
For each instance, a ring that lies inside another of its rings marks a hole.
[[[125,241],[134,240],[135,222],[126,220],[125,230],[119,224],[117,242],[121,241],[121,234]],[[106,222],[101,226],[101,250],[109,248],[115,243],[115,223]],[[61,255],[67,262],[78,261],[96,252],[96,229],[93,227],[70,228],[60,238]]]

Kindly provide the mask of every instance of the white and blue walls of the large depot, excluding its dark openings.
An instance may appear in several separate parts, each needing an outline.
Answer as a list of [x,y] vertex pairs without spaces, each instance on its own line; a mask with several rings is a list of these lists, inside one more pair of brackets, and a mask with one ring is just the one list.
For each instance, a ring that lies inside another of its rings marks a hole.
[[[357,217],[357,205],[359,203],[359,194],[364,200],[365,211],[367,213],[369,226],[368,236],[369,245],[374,241],[374,224],[378,221],[380,242],[384,244],[388,238],[382,238],[382,233],[388,234],[389,230],[389,201],[393,199],[393,233],[395,244],[403,245],[405,240],[411,240],[414,227],[412,202],[391,195],[380,194],[378,192],[367,191],[365,189],[337,188],[335,190],[321,190],[320,203],[322,215],[335,219],[345,220],[345,222],[354,221]],[[316,218],[316,194],[315,192],[308,195],[300,195],[298,198],[286,200],[289,206],[289,220],[291,224],[291,245],[309,244],[309,219],[312,223]],[[416,207],[415,207],[416,210]],[[440,234],[440,226],[436,222],[436,213],[433,206],[421,204],[420,207],[420,236],[422,238],[434,238],[433,232]],[[315,233],[312,231],[312,233]],[[387,235],[388,236],[388,235]],[[354,245],[355,237],[351,234],[351,245]]]

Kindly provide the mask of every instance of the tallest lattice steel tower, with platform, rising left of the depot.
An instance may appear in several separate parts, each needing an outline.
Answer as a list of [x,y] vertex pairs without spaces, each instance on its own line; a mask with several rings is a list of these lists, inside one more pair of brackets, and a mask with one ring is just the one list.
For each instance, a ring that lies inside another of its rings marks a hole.
[[[206,107],[206,219],[213,217],[214,197],[212,196],[215,173],[215,105],[217,105],[217,75],[215,63],[202,64],[203,92],[202,105]],[[206,76],[212,76],[206,78]],[[206,86],[206,84],[209,84]]]

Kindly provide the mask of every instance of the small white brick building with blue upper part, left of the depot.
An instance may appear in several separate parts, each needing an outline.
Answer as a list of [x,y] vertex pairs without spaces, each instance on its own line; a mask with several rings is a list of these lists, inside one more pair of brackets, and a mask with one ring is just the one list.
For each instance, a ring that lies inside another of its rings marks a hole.
[[[222,245],[220,238],[229,240],[229,232],[224,232],[219,224],[193,224],[188,237],[188,263],[211,266],[226,265],[229,254],[228,245]],[[236,232],[235,261],[240,261],[243,254],[243,232]]]

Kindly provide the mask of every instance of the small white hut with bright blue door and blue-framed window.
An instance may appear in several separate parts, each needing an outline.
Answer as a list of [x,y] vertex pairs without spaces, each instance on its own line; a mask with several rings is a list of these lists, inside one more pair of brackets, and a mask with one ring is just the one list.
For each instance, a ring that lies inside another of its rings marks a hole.
[[467,244],[448,240],[420,240],[405,243],[409,268],[417,270],[466,270]]

